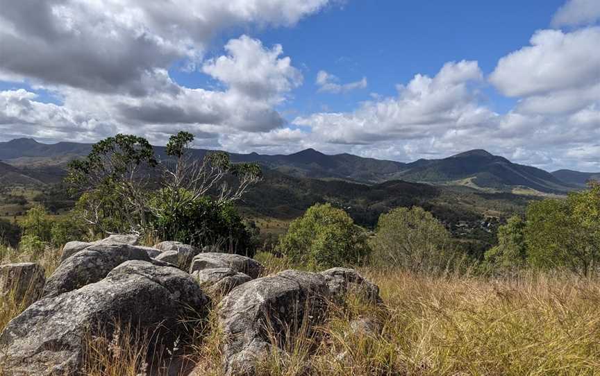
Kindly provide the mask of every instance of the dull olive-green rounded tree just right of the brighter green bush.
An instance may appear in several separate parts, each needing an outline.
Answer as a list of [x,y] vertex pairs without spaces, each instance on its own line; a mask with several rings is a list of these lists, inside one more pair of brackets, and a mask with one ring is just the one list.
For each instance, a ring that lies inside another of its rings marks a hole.
[[397,207],[381,214],[372,239],[372,260],[411,271],[447,268],[455,259],[450,233],[421,207]]

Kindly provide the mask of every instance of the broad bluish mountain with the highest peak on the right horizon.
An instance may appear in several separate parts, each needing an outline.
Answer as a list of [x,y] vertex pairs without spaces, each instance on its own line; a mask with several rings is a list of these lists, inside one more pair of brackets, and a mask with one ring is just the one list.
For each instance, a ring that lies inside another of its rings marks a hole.
[[441,160],[418,160],[406,164],[406,170],[397,178],[492,189],[524,187],[547,193],[574,189],[547,171],[515,164],[484,150],[467,151]]

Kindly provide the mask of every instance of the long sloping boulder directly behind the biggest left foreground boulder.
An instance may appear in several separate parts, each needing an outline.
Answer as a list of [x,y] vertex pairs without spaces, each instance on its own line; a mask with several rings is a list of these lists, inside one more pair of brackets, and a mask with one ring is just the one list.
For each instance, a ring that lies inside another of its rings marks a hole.
[[97,244],[65,259],[48,278],[42,296],[49,298],[98,282],[129,260],[150,262],[144,248],[128,244]]

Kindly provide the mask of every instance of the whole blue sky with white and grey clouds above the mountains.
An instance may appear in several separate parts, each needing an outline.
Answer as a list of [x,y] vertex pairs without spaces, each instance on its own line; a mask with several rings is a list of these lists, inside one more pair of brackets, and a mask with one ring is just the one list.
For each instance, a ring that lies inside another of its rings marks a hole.
[[600,0],[0,0],[0,141],[600,171]]

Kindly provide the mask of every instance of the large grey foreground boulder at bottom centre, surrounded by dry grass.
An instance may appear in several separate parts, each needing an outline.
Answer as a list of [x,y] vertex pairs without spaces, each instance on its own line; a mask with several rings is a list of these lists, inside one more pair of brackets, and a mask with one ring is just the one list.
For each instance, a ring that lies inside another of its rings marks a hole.
[[[236,287],[219,304],[219,325],[226,343],[224,368],[227,375],[253,375],[256,361],[269,350],[285,348],[304,320],[322,321],[328,302],[325,277],[319,273],[283,271]],[[272,348],[272,334],[279,339]],[[287,330],[292,333],[285,334]],[[283,351],[283,350],[281,350]]]

